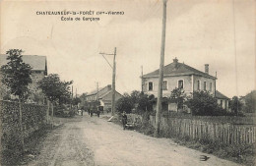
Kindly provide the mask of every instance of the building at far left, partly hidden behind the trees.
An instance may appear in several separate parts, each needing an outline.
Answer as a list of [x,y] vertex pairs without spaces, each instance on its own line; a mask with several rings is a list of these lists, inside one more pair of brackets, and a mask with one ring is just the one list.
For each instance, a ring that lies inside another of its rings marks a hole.
[[[9,60],[6,58],[8,55],[0,55],[0,66],[6,65]],[[29,64],[32,67],[32,83],[29,84],[31,95],[29,100],[32,102],[43,102],[43,96],[41,90],[37,88],[37,82],[47,76],[47,60],[46,56],[38,55],[23,55],[23,62]]]

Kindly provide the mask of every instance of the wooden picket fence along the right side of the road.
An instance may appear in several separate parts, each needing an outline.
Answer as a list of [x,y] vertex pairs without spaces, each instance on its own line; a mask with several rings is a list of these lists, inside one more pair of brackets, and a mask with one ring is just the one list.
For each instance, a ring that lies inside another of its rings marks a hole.
[[[150,123],[156,126],[155,116],[150,117]],[[256,126],[221,124],[193,119],[161,117],[160,132],[167,137],[192,138],[226,144],[251,144],[256,140]]]

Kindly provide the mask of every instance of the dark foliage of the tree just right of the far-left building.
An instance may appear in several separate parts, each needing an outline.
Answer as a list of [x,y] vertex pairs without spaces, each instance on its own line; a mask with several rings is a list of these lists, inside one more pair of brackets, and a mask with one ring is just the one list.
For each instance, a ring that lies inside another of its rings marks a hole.
[[50,74],[38,82],[45,96],[51,101],[69,103],[71,101],[70,84],[73,82],[61,82],[57,74]]

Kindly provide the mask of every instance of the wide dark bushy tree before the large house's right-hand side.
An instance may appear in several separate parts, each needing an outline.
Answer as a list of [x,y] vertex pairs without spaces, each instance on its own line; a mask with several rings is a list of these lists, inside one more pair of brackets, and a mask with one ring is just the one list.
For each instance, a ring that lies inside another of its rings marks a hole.
[[193,115],[221,115],[224,110],[217,103],[217,99],[208,91],[195,91],[186,104]]

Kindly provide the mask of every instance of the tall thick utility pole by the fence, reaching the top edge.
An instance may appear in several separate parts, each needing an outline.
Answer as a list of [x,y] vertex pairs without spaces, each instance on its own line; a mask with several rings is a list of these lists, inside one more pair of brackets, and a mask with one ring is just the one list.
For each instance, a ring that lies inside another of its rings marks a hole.
[[160,78],[159,78],[159,90],[158,90],[158,102],[157,102],[157,114],[156,114],[156,131],[155,138],[160,135],[160,112],[161,112],[161,98],[162,98],[162,81],[163,81],[163,64],[164,64],[164,47],[165,47],[165,27],[166,27],[166,1],[162,0],[162,30],[161,30],[161,46],[160,46]]

